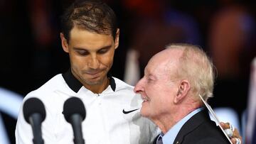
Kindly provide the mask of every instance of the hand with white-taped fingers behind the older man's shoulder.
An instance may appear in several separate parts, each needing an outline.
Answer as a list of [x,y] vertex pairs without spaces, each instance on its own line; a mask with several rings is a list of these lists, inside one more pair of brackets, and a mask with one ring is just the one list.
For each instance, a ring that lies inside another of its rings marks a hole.
[[[220,126],[225,131],[227,131],[227,130],[233,131],[232,135],[229,135],[233,144],[242,144],[242,137],[239,134],[237,128],[233,128],[233,126],[230,126],[230,123],[223,123],[223,122],[220,122]],[[239,142],[239,140],[240,140],[240,142]]]

